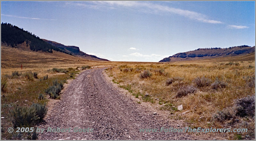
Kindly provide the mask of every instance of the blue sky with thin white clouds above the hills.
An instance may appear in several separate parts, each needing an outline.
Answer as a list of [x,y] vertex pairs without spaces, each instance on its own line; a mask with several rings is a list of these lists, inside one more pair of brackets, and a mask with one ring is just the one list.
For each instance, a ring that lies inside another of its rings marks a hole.
[[1,1],[1,23],[111,61],[255,46],[254,1]]

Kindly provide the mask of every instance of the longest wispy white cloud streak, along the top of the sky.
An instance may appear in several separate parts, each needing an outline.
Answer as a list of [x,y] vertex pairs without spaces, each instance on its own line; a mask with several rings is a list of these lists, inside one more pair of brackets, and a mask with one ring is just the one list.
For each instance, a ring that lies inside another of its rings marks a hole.
[[138,11],[144,11],[149,13],[159,13],[159,12],[165,12],[170,14],[178,14],[180,16],[184,16],[190,19],[194,19],[200,22],[204,23],[211,23],[211,24],[222,24],[221,21],[209,19],[206,15],[194,12],[194,11],[188,11],[188,10],[182,10],[178,8],[172,8],[169,6],[164,6],[160,4],[152,4],[149,2],[136,2],[136,1],[93,1],[88,2],[85,4],[81,3],[68,3],[71,5],[76,6],[83,6],[83,7],[89,7],[89,8],[130,8],[130,9],[137,9]]

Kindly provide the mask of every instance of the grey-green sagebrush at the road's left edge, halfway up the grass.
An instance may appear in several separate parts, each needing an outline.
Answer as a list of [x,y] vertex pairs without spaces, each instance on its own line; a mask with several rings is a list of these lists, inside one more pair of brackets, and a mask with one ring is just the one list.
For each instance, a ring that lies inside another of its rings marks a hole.
[[48,94],[51,98],[56,99],[60,95],[63,84],[58,83],[57,80],[54,80],[52,83],[52,86],[49,86],[47,89],[45,89],[45,93]]

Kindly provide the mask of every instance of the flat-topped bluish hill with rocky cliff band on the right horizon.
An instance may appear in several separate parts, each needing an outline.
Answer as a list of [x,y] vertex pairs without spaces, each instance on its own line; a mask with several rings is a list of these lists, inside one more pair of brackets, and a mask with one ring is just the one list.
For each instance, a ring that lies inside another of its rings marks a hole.
[[159,62],[175,62],[185,60],[201,60],[221,57],[242,56],[250,53],[255,54],[255,46],[234,46],[229,48],[199,48],[194,51],[177,53],[170,57],[164,58]]

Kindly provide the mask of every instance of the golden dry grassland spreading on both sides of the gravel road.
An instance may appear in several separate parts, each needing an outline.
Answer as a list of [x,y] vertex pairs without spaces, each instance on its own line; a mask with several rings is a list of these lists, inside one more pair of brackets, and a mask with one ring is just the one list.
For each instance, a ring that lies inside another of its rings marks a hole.
[[[82,66],[108,66],[106,71],[113,82],[141,102],[150,102],[160,110],[169,111],[170,118],[185,120],[192,128],[248,128],[247,133],[219,136],[252,139],[255,137],[255,113],[251,114],[243,105],[241,109],[237,100],[255,96],[254,60],[255,54],[165,63],[92,61],[59,52],[32,52],[22,47],[1,46],[1,116],[4,117],[1,128],[12,127],[10,112],[15,106],[30,107],[33,103],[51,101],[45,90],[54,85],[54,80],[65,84],[82,71]],[[151,96],[145,96],[147,93]],[[39,98],[40,94],[43,99]],[[246,102],[246,99],[241,101]],[[178,110],[179,105],[183,110]],[[245,114],[237,113],[238,110]],[[185,111],[188,112],[182,114]],[[21,137],[2,131],[1,139],[31,139],[28,134]]]

